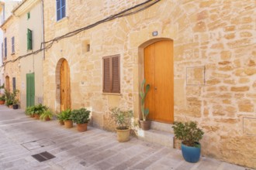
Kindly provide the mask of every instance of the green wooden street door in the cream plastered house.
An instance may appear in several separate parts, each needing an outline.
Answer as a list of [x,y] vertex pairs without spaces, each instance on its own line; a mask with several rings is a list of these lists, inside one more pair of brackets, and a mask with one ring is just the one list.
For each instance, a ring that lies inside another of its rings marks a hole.
[[35,105],[35,74],[26,74],[26,107]]

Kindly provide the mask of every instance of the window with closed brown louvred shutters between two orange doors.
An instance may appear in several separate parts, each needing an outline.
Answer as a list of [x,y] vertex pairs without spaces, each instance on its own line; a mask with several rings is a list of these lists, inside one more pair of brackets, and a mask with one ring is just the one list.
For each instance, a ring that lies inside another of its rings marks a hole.
[[120,56],[103,57],[103,93],[120,93]]

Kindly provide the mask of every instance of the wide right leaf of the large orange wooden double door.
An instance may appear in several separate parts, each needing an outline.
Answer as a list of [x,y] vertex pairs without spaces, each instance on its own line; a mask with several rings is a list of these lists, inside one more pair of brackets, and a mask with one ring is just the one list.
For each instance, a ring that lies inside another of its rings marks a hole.
[[155,120],[173,121],[173,65],[171,41],[155,43]]

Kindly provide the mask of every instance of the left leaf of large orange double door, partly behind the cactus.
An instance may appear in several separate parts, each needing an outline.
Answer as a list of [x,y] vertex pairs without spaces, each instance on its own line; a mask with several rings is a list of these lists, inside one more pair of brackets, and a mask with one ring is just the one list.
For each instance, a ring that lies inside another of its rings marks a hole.
[[154,45],[144,49],[144,78],[150,84],[150,90],[145,99],[145,108],[149,108],[148,119],[154,120]]

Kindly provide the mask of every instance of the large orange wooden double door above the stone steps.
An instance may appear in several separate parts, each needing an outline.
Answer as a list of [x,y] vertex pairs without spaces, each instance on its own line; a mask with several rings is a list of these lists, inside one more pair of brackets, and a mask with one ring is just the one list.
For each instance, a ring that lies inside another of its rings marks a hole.
[[145,107],[154,121],[174,121],[173,42],[154,42],[144,49],[144,77],[150,84]]

